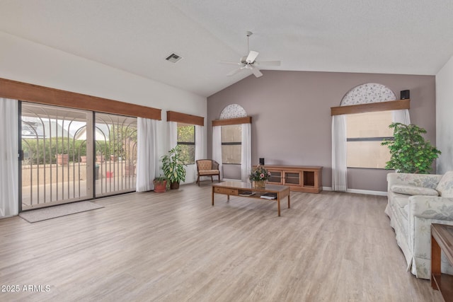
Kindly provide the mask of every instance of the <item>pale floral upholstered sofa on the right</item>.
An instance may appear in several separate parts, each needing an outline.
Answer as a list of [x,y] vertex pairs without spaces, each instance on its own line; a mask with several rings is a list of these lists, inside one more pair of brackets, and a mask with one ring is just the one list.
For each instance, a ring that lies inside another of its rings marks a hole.
[[[431,276],[431,223],[453,225],[453,171],[445,175],[389,173],[385,213],[395,230],[408,270]],[[442,272],[453,267],[442,255]]]

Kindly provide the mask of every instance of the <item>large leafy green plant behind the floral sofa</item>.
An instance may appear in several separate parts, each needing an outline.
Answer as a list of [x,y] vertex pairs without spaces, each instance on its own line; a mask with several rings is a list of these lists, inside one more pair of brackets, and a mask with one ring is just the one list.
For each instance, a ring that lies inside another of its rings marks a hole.
[[415,124],[391,123],[394,129],[394,139],[386,139],[381,144],[390,149],[390,161],[385,168],[394,169],[400,173],[428,174],[434,161],[441,153],[430,141],[425,141],[422,134],[426,130]]

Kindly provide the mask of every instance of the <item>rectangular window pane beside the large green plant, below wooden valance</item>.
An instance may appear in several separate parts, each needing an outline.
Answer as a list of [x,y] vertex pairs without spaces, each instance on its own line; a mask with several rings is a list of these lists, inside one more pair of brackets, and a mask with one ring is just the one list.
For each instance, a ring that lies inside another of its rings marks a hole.
[[391,111],[347,115],[348,168],[385,168],[390,152],[381,142],[393,137],[391,121]]

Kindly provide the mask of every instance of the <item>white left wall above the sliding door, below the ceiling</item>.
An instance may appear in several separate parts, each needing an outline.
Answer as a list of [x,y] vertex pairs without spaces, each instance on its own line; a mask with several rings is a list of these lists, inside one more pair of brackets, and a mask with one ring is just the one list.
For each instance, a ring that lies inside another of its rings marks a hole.
[[[166,110],[205,117],[206,138],[205,97],[7,33],[0,32],[0,45],[1,78],[161,109],[159,156],[169,147]],[[204,146],[207,154],[206,139]],[[186,182],[195,181],[195,173],[189,166]]]

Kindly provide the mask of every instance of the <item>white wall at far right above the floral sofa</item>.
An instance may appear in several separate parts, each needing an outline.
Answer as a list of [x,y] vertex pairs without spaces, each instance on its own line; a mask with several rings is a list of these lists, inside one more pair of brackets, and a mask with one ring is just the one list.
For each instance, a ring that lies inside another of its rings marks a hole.
[[453,170],[453,57],[436,74],[437,173]]

